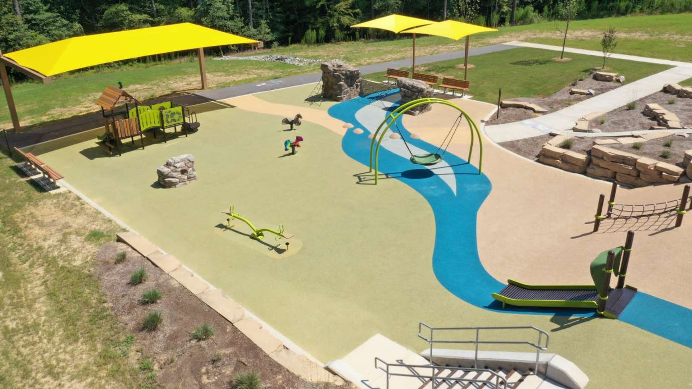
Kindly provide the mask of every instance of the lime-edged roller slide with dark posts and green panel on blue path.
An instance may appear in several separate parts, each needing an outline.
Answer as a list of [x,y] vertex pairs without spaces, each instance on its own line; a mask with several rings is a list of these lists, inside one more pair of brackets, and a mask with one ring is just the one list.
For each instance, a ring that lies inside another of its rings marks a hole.
[[[493,293],[493,298],[519,307],[595,308],[606,318],[617,318],[637,293],[625,284],[635,232],[627,233],[624,246],[600,253],[591,262],[593,285],[528,285],[508,280],[507,287]],[[617,276],[617,287],[610,288],[611,275]]]

